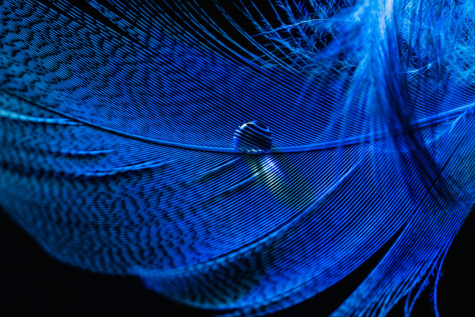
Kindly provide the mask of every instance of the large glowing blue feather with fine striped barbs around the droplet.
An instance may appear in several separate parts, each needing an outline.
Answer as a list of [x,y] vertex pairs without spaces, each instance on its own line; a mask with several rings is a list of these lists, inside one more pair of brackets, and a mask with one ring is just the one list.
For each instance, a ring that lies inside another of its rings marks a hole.
[[[332,316],[409,316],[474,203],[473,3],[238,3],[252,30],[213,8],[0,0],[2,208],[64,263],[225,316],[393,241]],[[249,120],[269,153],[233,148]]]

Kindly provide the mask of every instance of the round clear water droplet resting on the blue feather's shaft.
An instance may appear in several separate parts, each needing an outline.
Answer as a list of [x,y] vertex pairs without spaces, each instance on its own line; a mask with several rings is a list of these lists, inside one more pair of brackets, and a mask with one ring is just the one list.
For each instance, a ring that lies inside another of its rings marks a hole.
[[234,131],[233,143],[244,153],[266,153],[272,146],[272,133],[264,123],[247,121]]

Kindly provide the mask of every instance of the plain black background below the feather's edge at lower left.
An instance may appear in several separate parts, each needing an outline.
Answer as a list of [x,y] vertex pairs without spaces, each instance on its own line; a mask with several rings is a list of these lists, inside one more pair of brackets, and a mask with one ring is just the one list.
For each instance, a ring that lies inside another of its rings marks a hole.
[[3,212],[0,241],[0,316],[209,316],[143,288],[138,278],[57,262]]

